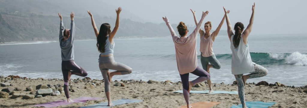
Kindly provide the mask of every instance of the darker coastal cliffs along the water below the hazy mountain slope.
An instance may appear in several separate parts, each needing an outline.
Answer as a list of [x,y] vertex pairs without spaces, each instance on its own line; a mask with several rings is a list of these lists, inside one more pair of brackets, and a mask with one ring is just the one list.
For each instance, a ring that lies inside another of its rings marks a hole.
[[[70,28],[70,18],[63,18],[64,27]],[[115,19],[95,17],[98,27],[109,23],[114,28]],[[57,40],[60,19],[57,16],[30,15],[20,16],[0,14],[0,42],[48,41]],[[94,30],[89,17],[76,17],[76,39],[95,39]],[[116,38],[158,37],[169,35],[165,24],[140,23],[130,19],[120,21]]]

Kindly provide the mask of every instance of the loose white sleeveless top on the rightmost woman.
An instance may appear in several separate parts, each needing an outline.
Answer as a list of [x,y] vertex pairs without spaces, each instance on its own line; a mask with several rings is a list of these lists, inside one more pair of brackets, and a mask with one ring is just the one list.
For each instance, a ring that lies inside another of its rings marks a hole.
[[245,45],[241,35],[239,46],[235,48],[232,39],[234,35],[231,35],[230,49],[232,52],[231,60],[231,73],[234,75],[254,72],[253,61],[251,61],[251,55],[249,52],[248,43]]

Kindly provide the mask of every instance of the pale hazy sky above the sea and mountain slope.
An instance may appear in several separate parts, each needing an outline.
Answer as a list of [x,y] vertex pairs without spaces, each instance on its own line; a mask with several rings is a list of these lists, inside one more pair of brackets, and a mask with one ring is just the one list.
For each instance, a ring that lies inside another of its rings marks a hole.
[[[230,10],[229,18],[232,26],[236,22],[242,22],[244,26],[247,26],[251,17],[251,7],[255,2],[255,20],[251,34],[307,33],[306,0],[111,0],[103,2],[114,7],[121,6],[123,10],[143,19],[142,22],[153,23],[162,23],[162,17],[167,16],[172,24],[183,21],[194,25],[190,9],[196,10],[198,20],[202,11],[208,10],[209,14],[204,22],[212,21],[213,30],[223,18],[223,6]],[[226,29],[225,21],[222,30]]]

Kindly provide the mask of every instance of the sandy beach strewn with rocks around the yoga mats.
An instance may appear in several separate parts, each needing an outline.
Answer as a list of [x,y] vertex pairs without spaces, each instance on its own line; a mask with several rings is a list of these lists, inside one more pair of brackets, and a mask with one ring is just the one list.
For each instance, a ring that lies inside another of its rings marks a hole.
[[[14,78],[16,77],[16,78]],[[37,90],[38,85],[47,85],[54,88],[56,86],[63,86],[64,81],[62,79],[30,79],[30,78],[17,78],[17,76],[0,78],[1,83],[10,84],[8,87],[0,87],[3,89],[11,88],[14,91],[10,94],[23,93],[32,94]],[[115,86],[123,84],[124,87]],[[307,87],[290,87],[290,86],[266,86],[256,85],[256,83],[250,83],[245,86],[245,98],[246,101],[263,101],[263,102],[276,102],[272,108],[306,108],[307,107]],[[194,91],[208,90],[208,85],[202,83],[200,87],[193,87]],[[237,85],[235,84],[212,84],[214,90],[220,91],[237,91]],[[32,86],[33,90],[28,91],[27,87]],[[58,87],[57,90],[59,90]],[[70,81],[70,96],[72,99],[78,97],[99,97],[102,100],[87,101],[85,103],[74,103],[68,106],[59,106],[59,108],[78,108],[81,106],[89,106],[100,102],[107,102],[104,93],[103,80],[95,79],[72,79]],[[181,82],[161,81],[149,84],[147,81],[135,81],[135,80],[122,80],[111,82],[111,98],[117,99],[141,99],[143,102],[123,104],[114,106],[113,108],[177,108],[185,105],[185,100],[181,93],[173,93],[174,91],[182,90]],[[74,92],[72,92],[74,91]],[[3,91],[4,92],[4,91]],[[32,93],[31,93],[32,92]],[[62,92],[58,96],[46,95],[45,97],[25,99],[24,97],[18,97],[11,99],[12,95],[8,95],[7,98],[0,98],[2,108],[16,107],[16,108],[34,108],[33,105],[52,102],[57,100],[65,100],[66,97]],[[190,94],[191,103],[204,102],[204,101],[216,101],[221,102],[219,105],[213,108],[229,108],[232,105],[240,104],[238,95],[231,94]]]

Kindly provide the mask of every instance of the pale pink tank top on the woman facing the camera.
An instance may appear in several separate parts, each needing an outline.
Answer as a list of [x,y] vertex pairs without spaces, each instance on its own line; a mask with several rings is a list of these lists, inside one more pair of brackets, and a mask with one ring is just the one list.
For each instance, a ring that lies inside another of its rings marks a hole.
[[213,53],[213,40],[212,33],[207,39],[205,39],[205,34],[200,36],[200,52],[203,57],[210,57]]

